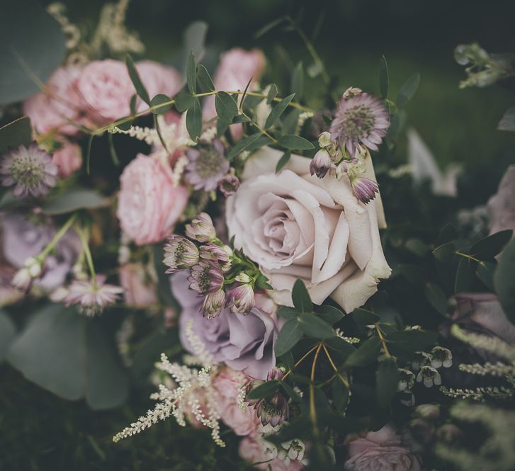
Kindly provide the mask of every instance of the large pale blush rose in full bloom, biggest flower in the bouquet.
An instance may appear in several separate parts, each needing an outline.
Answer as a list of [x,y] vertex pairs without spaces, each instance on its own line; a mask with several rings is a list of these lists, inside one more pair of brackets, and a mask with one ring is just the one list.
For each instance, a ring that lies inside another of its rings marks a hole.
[[[349,181],[310,176],[305,157],[293,155],[276,174],[282,154],[264,147],[247,161],[239,190],[227,198],[229,236],[259,263],[278,304],[292,305],[293,284],[302,278],[313,302],[331,295],[351,312],[390,276],[378,231],[385,224],[380,197],[360,203]],[[364,176],[375,180],[370,157]]]

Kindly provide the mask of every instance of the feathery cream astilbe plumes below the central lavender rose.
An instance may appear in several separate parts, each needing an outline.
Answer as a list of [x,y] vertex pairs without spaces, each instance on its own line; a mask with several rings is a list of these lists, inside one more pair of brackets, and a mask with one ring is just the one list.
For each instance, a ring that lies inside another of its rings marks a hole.
[[150,396],[151,399],[158,401],[156,407],[117,433],[113,441],[140,433],[157,421],[174,416],[180,426],[186,426],[186,419],[190,419],[210,428],[213,441],[218,446],[225,446],[225,442],[220,438],[220,415],[216,409],[217,392],[212,384],[212,373],[217,370],[217,363],[194,334],[193,321],[188,323],[186,336],[194,353],[194,358],[190,358],[190,362],[201,365],[202,368],[198,370],[187,365],[170,363],[162,353],[161,361],[156,366],[171,376],[176,387],[169,389],[165,385],[159,385],[159,392]]

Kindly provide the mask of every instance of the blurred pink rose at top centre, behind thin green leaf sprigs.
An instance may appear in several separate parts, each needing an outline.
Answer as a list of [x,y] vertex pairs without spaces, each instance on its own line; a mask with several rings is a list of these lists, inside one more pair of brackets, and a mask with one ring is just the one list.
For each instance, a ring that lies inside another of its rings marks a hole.
[[[220,56],[213,83],[216,90],[244,90],[252,78],[249,90],[260,79],[266,65],[265,56],[259,49],[246,51],[239,47],[224,52]],[[204,118],[210,120],[216,116],[215,97],[210,96],[204,102]]]

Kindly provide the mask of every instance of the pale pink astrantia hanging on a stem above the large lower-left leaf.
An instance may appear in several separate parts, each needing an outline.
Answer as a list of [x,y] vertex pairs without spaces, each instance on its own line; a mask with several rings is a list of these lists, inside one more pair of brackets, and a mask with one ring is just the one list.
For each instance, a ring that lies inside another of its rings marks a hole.
[[97,276],[93,280],[74,280],[68,287],[68,294],[64,297],[64,305],[78,305],[79,312],[87,316],[100,314],[108,305],[112,305],[123,293],[123,288],[107,285],[104,276]]

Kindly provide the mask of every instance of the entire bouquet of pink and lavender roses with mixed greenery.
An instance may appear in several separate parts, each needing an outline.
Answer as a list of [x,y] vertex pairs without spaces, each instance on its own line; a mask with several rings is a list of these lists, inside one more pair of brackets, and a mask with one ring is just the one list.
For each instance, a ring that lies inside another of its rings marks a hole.
[[[126,7],[88,36],[52,5],[55,69],[11,57],[30,80],[2,96],[16,119],[0,129],[1,302],[36,314],[21,333],[0,314],[0,353],[106,409],[149,334],[156,404],[114,441],[170,419],[220,447],[230,431],[263,470],[470,463],[451,452],[460,420],[515,391],[514,168],[486,210],[463,211],[413,130],[410,165],[395,163],[418,74],[396,98],[385,57],[377,90],[333,79],[291,16],[261,31],[305,42],[310,66],[288,81],[268,80],[259,49],[208,71],[203,23],[179,72],[133,59]],[[477,45],[456,53],[467,85],[513,70]]]

